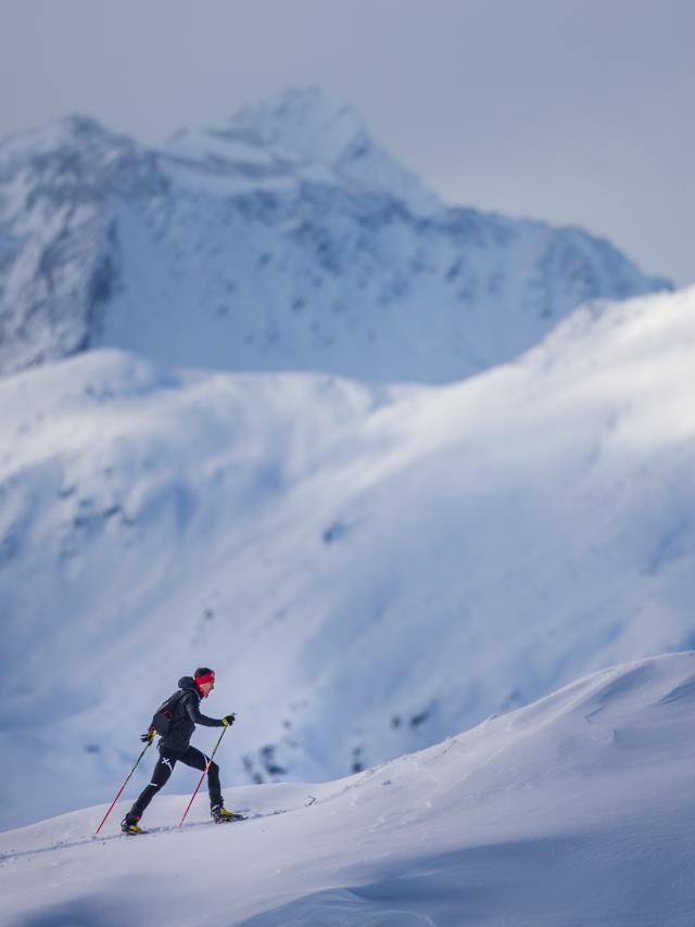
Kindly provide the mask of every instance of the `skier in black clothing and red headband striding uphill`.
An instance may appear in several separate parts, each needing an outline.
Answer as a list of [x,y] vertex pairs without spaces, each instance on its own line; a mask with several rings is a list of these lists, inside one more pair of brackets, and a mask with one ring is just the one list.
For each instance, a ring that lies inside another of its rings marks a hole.
[[[167,709],[165,714],[168,718],[168,729],[160,739],[160,759],[154,766],[152,780],[146,786],[138,800],[121,822],[121,829],[125,834],[142,833],[138,827],[138,822],[144,809],[168,780],[177,760],[201,772],[205,770],[210,758],[197,750],[195,747],[190,746],[195,725],[229,727],[235,722],[233,712],[220,719],[207,718],[200,712],[200,700],[207,698],[212,689],[215,688],[215,674],[207,666],[199,666],[192,676],[184,676],[178,681],[178,691],[162,706],[163,709]],[[153,725],[140,739],[143,744],[151,744],[155,734],[156,731]],[[239,817],[225,808],[219,787],[219,766],[215,762],[210,763],[207,770],[207,789],[210,791],[210,813],[214,821],[222,823],[235,821]]]

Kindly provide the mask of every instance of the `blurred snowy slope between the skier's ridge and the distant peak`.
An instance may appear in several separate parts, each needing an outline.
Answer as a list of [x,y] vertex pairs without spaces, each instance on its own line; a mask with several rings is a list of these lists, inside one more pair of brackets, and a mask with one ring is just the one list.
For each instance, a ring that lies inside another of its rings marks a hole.
[[242,783],[336,778],[690,649],[694,353],[686,290],[450,386],[117,352],[0,383],[3,825],[105,800],[197,664]]

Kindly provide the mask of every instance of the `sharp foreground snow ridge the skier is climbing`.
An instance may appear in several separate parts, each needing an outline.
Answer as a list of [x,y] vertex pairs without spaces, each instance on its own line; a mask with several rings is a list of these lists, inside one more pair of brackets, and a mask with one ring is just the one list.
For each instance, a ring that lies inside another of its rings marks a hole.
[[179,830],[180,795],[144,837],[128,802],[97,839],[106,805],[4,833],[2,923],[690,927],[694,716],[695,655],[659,657],[346,779],[229,789],[240,824],[199,798]]

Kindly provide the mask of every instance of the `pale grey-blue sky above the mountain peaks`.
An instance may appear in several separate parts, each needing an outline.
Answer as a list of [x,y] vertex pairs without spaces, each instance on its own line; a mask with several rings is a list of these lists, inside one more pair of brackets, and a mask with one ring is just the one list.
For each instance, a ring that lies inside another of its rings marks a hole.
[[445,200],[610,238],[695,282],[692,0],[0,0],[0,135],[156,142],[295,85]]

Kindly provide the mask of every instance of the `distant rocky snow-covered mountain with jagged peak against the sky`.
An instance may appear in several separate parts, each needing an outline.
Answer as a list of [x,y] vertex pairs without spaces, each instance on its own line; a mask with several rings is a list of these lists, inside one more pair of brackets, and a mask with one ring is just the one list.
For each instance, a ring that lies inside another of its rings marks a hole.
[[580,229],[442,204],[315,88],[160,148],[85,117],[0,144],[4,374],[114,346],[442,382],[667,288]]

